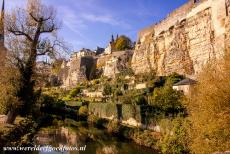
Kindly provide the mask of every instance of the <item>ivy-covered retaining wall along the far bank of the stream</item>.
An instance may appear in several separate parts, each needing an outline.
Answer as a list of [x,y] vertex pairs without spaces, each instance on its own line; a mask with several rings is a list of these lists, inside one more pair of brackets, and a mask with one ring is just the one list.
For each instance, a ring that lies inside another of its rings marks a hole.
[[88,110],[90,115],[105,119],[118,119],[123,124],[142,127],[146,129],[158,129],[154,123],[154,117],[148,117],[146,114],[149,106],[115,103],[89,103]]

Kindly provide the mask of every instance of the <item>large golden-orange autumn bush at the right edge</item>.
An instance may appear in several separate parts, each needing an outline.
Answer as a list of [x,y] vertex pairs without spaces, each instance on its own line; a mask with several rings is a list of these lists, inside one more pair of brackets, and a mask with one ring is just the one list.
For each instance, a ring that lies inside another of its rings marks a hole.
[[215,153],[230,149],[230,56],[208,64],[187,99],[191,119],[193,153]]

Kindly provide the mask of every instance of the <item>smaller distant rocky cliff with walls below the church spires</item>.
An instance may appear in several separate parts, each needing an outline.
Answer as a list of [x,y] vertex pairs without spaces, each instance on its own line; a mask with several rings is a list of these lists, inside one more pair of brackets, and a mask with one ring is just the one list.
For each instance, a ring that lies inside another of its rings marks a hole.
[[133,51],[116,51],[109,55],[77,56],[73,54],[68,62],[64,61],[58,75],[63,88],[74,88],[78,83],[94,79],[98,72],[103,76],[114,78],[117,73],[126,70],[130,64]]

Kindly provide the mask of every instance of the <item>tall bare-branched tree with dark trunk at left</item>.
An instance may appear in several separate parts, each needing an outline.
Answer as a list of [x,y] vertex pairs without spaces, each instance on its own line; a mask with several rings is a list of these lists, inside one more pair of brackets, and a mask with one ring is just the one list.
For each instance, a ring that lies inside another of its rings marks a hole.
[[18,8],[7,14],[5,25],[10,61],[19,72],[15,95],[20,106],[10,107],[7,120],[13,123],[17,114],[31,113],[38,97],[34,90],[37,58],[57,56],[57,47],[62,42],[56,37],[60,23],[55,9],[41,4],[40,0],[28,0],[26,9]]

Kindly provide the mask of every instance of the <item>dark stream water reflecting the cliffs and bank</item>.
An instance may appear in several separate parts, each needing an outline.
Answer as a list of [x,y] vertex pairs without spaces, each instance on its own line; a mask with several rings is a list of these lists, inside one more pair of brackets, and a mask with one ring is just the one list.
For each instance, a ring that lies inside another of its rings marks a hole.
[[85,147],[85,151],[39,152],[40,154],[154,154],[154,150],[139,146],[131,141],[112,137],[106,131],[94,127],[47,128],[35,136],[36,145],[52,147]]

